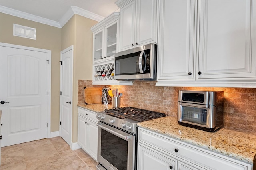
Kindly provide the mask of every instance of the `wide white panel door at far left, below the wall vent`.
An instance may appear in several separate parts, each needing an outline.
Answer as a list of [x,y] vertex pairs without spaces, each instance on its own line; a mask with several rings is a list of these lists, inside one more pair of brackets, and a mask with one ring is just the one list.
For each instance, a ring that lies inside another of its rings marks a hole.
[[47,138],[48,53],[0,47],[1,146]]

